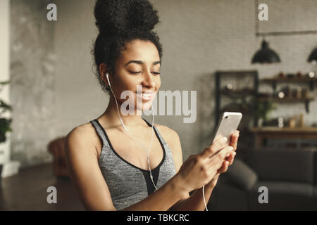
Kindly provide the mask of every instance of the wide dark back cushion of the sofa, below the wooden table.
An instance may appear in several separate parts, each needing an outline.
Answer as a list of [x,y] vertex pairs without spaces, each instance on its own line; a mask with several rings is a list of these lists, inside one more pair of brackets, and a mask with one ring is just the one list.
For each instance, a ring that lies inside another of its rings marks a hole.
[[252,150],[245,158],[260,180],[313,184],[313,150]]

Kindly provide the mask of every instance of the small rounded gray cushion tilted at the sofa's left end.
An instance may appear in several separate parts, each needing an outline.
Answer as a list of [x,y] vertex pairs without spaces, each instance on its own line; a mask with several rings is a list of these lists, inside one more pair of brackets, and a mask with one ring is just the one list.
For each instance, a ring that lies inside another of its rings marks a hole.
[[225,174],[233,184],[244,191],[250,190],[258,180],[258,175],[254,170],[237,158]]

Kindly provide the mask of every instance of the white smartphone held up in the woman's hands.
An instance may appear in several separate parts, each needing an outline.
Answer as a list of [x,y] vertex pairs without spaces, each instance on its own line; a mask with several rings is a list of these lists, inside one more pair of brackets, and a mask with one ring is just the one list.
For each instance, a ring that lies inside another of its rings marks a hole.
[[213,141],[216,141],[216,139],[218,139],[219,136],[225,136],[228,139],[227,143],[229,145],[230,136],[237,130],[237,127],[239,126],[241,119],[242,113],[223,113],[218,122],[216,134],[214,134],[213,136]]

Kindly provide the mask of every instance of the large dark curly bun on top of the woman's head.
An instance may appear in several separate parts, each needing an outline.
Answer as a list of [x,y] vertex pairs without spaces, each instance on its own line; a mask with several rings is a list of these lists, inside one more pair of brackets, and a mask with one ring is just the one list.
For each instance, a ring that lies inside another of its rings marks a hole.
[[97,0],[94,17],[99,32],[120,34],[127,30],[153,30],[159,16],[148,0]]

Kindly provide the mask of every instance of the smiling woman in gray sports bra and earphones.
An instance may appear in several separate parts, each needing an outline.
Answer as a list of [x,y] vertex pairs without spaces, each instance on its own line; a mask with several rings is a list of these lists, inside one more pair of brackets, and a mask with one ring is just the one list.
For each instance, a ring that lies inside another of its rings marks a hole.
[[[202,186],[208,202],[219,174],[233,162],[238,132],[230,146],[217,139],[182,164],[178,134],[163,125],[152,127],[139,115],[151,108],[161,86],[162,47],[153,32],[157,11],[147,0],[98,0],[94,16],[97,78],[110,101],[102,115],[75,127],[66,139],[68,169],[85,209],[204,210]],[[132,93],[134,115],[118,110],[123,91]],[[144,152],[149,146],[151,154]]]

